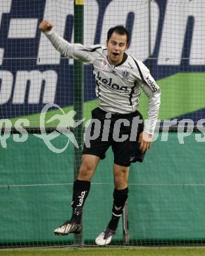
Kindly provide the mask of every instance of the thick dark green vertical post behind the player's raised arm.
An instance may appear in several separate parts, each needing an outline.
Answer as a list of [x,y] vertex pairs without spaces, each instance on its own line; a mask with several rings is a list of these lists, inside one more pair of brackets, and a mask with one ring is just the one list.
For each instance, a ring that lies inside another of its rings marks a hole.
[[[74,43],[83,44],[84,34],[84,0],[74,0]],[[79,60],[74,60],[73,64],[73,110],[77,112],[74,116],[74,121],[83,119],[83,79],[84,79],[84,64]],[[81,123],[74,129],[75,139],[79,145],[79,148],[74,147],[74,159],[73,159],[73,178],[77,179],[79,168],[81,166],[81,152],[83,150],[83,133],[84,125]],[[83,246],[83,230],[80,234],[73,235],[73,244]]]

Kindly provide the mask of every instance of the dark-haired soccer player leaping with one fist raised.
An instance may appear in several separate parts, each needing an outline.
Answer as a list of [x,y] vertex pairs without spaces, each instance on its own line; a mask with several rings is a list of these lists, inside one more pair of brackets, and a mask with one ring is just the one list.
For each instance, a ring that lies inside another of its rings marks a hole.
[[[77,180],[73,183],[73,215],[69,221],[56,228],[54,233],[65,235],[81,232],[83,205],[90,190],[92,176],[99,161],[105,158],[107,148],[111,146],[115,182],[112,215],[105,230],[96,238],[96,244],[107,245],[115,235],[128,198],[130,163],[143,161],[145,152],[151,147],[160,106],[160,88],[147,67],[126,53],[129,35],[123,26],[109,29],[106,47],[84,47],[69,43],[54,32],[52,24],[47,20],[41,22],[39,29],[64,56],[92,64],[99,105],[92,110],[92,120],[98,122],[91,122],[87,130],[82,164]],[[138,112],[140,89],[149,98],[145,125]],[[100,129],[100,136],[91,139],[97,128]]]

